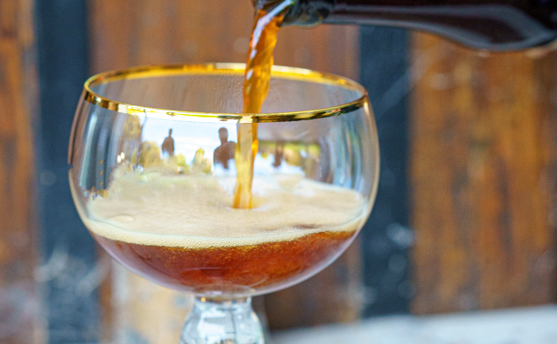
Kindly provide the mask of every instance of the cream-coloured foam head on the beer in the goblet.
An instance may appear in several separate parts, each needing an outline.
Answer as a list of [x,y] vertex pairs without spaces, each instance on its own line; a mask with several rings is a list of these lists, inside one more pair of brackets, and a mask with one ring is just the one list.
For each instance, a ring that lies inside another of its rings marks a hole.
[[360,193],[300,175],[256,175],[252,209],[235,209],[235,183],[232,176],[121,169],[105,196],[87,200],[80,216],[91,232],[111,240],[207,248],[356,231],[368,215]]

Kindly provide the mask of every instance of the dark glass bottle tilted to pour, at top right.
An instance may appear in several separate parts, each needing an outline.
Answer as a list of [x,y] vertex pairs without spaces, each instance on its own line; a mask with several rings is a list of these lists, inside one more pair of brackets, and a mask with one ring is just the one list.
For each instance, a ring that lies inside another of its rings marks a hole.
[[557,0],[294,0],[285,17],[285,24],[321,22],[420,29],[509,51],[557,38]]

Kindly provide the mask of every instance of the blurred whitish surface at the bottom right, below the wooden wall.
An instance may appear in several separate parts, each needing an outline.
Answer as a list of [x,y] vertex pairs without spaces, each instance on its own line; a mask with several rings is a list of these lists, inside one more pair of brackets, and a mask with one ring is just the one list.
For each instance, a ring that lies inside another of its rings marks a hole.
[[377,317],[274,332],[269,344],[557,344],[557,306]]

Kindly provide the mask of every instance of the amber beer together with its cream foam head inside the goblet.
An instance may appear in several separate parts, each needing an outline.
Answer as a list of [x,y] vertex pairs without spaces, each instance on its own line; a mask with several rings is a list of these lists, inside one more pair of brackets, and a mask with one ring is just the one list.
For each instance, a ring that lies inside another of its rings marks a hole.
[[232,207],[233,177],[115,174],[105,197],[87,203],[87,228],[136,273],[203,295],[299,282],[340,254],[367,216],[358,192],[298,175],[256,176],[255,207],[245,210]]

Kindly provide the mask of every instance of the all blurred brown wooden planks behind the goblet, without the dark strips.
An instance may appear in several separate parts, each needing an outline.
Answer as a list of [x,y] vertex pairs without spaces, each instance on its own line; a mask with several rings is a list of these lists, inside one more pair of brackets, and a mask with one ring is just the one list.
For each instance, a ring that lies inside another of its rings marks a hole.
[[[9,344],[41,337],[33,313],[32,6],[0,0],[0,342]],[[252,11],[250,1],[90,1],[91,74],[139,64],[244,62]],[[488,54],[427,34],[413,34],[409,49],[412,311],[555,302],[555,52]],[[287,27],[275,62],[358,79],[358,56],[356,27]],[[320,275],[266,296],[270,327],[355,320],[360,271],[356,243]],[[153,307],[174,307],[169,317],[187,312],[181,296],[125,274],[116,271],[101,286],[107,336],[116,322],[143,327],[138,314],[149,306],[144,294],[122,298],[117,290],[148,290]],[[9,322],[13,315],[20,315],[18,327]],[[179,332],[172,326],[159,330]]]

